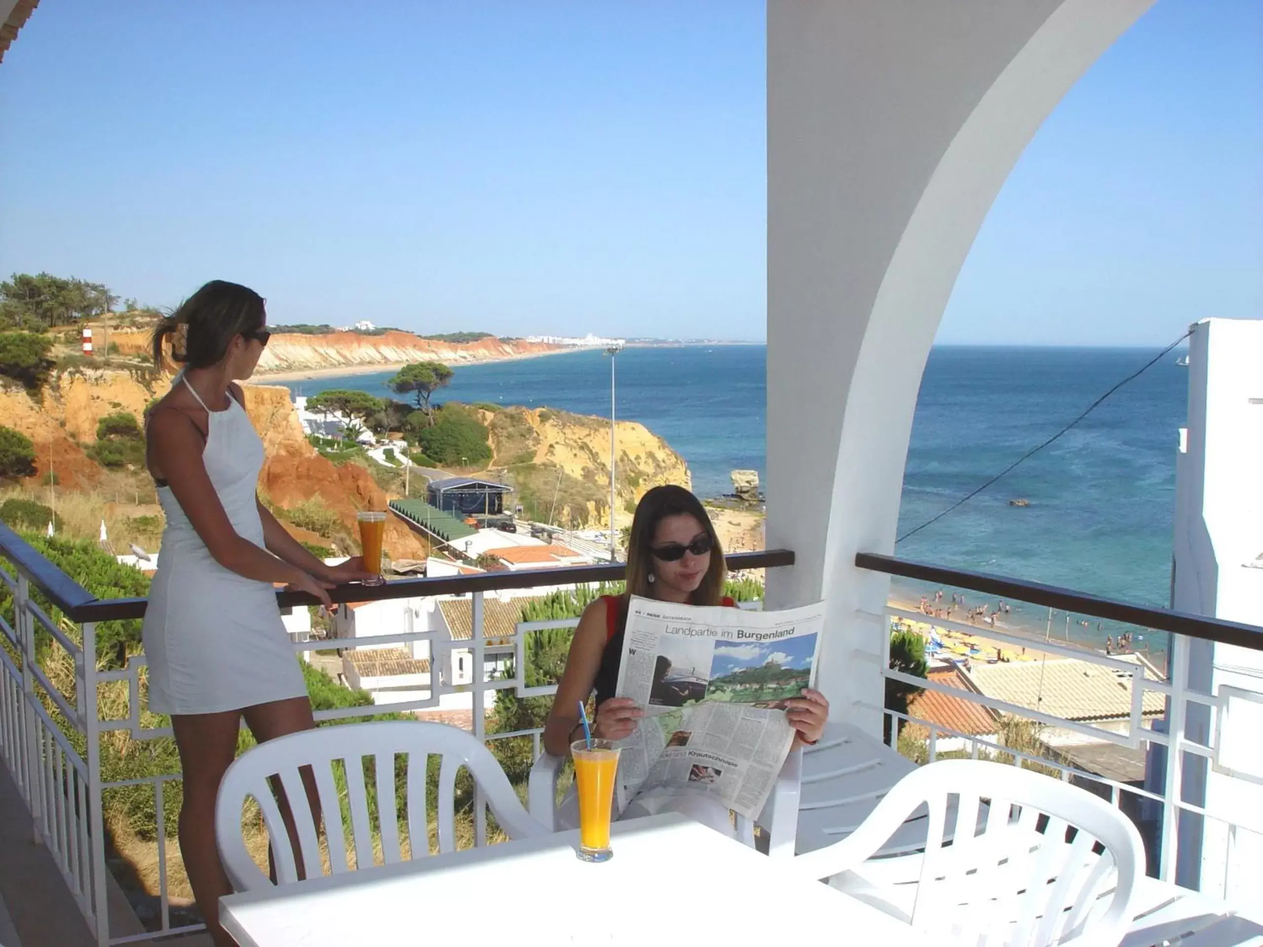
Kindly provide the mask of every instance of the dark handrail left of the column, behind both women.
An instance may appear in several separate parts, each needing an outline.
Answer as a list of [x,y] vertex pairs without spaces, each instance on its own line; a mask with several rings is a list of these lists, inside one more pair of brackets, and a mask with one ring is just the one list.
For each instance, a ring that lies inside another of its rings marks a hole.
[[[20,540],[19,540],[20,542]],[[27,547],[29,549],[29,547]],[[39,557],[34,549],[30,551]],[[43,557],[39,557],[40,559]],[[789,549],[768,549],[767,552],[730,553],[726,557],[729,569],[762,569],[778,566],[793,566],[793,553]],[[64,577],[57,567],[44,559],[48,568]],[[432,595],[457,595],[461,592],[494,592],[500,588],[532,588],[534,586],[561,586],[578,582],[616,582],[623,578],[626,564],[621,562],[599,566],[565,566],[561,568],[522,569],[519,572],[482,572],[476,576],[450,576],[442,578],[400,578],[380,586],[346,585],[330,590],[328,597],[335,602],[373,602],[383,599],[410,599]],[[77,587],[77,586],[76,586]],[[82,590],[80,590],[82,591]],[[62,611],[73,621],[109,621],[114,619],[139,619],[145,614],[145,599],[92,599],[72,607],[58,604]],[[277,604],[283,609],[296,605],[317,605],[318,602],[304,592],[277,592]]]

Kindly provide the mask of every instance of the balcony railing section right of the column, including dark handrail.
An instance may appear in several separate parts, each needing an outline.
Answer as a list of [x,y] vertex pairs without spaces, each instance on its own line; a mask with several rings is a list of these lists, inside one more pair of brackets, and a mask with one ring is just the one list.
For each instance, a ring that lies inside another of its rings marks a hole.
[[[1170,634],[1167,644],[1168,670],[1164,676],[1146,673],[1144,663],[1104,654],[1085,645],[1075,645],[1068,640],[1058,640],[1051,634],[1047,638],[1019,634],[991,625],[967,624],[964,619],[947,619],[926,615],[914,609],[888,605],[884,614],[863,614],[859,617],[883,631],[897,622],[926,622],[943,631],[983,638],[989,641],[1009,645],[1014,649],[1029,649],[1043,655],[1074,658],[1079,662],[1099,667],[1114,676],[1128,696],[1128,712],[1114,721],[1114,726],[1092,722],[1085,718],[1070,720],[1041,710],[1036,706],[998,700],[981,692],[946,686],[908,676],[890,667],[890,635],[877,634],[873,641],[880,641],[880,650],[869,657],[878,665],[883,678],[897,681],[912,687],[941,693],[978,707],[986,707],[997,715],[1021,721],[1029,721],[1036,730],[1068,731],[1081,744],[1116,746],[1129,750],[1142,750],[1146,758],[1146,780],[1143,785],[1122,782],[1099,773],[1074,765],[1068,756],[1074,754],[1058,750],[1055,741],[1038,742],[1034,751],[1029,746],[1008,746],[991,735],[964,732],[940,721],[930,721],[912,713],[892,711],[860,703],[868,710],[880,711],[892,721],[890,732],[898,732],[903,724],[914,724],[928,731],[926,758],[933,761],[941,755],[941,745],[946,741],[954,751],[978,758],[1002,759],[1014,765],[1042,768],[1056,777],[1072,780],[1085,788],[1109,798],[1113,804],[1137,821],[1142,836],[1149,849],[1149,870],[1163,881],[1188,884],[1191,876],[1177,875],[1181,864],[1181,845],[1196,846],[1194,855],[1201,862],[1202,846],[1216,846],[1207,864],[1223,861],[1224,876],[1199,879],[1199,886],[1210,886],[1219,894],[1226,894],[1234,888],[1233,854],[1240,851],[1245,842],[1243,833],[1255,845],[1263,842],[1263,814],[1255,807],[1236,804],[1225,807],[1221,798],[1207,797],[1205,792],[1207,771],[1245,783],[1263,783],[1263,766],[1245,773],[1239,763],[1233,769],[1224,758],[1226,744],[1226,724],[1229,707],[1234,701],[1255,702],[1258,697],[1243,693],[1231,687],[1219,687],[1214,692],[1191,687],[1188,681],[1190,643],[1214,641],[1219,644],[1263,650],[1263,628],[1244,625],[1221,619],[1187,615],[1164,609],[1152,609],[1139,605],[1103,599],[1100,596],[1057,588],[1034,582],[1023,582],[978,572],[927,566],[923,563],[898,559],[889,556],[861,553],[855,564],[927,583],[927,588],[938,587],[952,591],[981,592],[997,600],[1010,604],[1027,602],[1041,609],[1056,610],[1067,615],[1091,617],[1101,621],[1124,622],[1140,630],[1146,640],[1153,639],[1153,633]],[[1051,616],[1050,616],[1051,621]],[[1118,626],[1113,626],[1118,630]],[[1152,657],[1152,655],[1151,655]],[[985,660],[975,658],[975,660]],[[1260,688],[1263,689],[1263,688]],[[1158,696],[1163,711],[1161,717],[1146,712],[1153,707],[1152,696]],[[1147,702],[1146,696],[1151,696]],[[1116,727],[1116,729],[1115,729]],[[988,739],[991,737],[991,739]],[[1240,731],[1234,740],[1240,740]],[[893,742],[893,737],[892,737]],[[1065,741],[1065,747],[1076,745],[1076,740]],[[1263,792],[1263,790],[1260,790]],[[1218,804],[1216,804],[1218,803]],[[1207,826],[1219,827],[1218,832]],[[1253,864],[1244,864],[1243,870],[1253,871]],[[1186,869],[1188,870],[1188,869]],[[1197,874],[1197,871],[1192,871]]]

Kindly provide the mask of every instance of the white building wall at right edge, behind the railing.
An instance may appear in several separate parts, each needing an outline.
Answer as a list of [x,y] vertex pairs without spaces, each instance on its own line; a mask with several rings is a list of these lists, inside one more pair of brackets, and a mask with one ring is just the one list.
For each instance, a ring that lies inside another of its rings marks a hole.
[[[1206,319],[1194,326],[1188,350],[1188,427],[1176,460],[1172,607],[1263,625],[1263,321]],[[1263,693],[1263,653],[1185,641],[1187,686]],[[1172,659],[1172,667],[1178,662]],[[1231,712],[1229,715],[1231,717]],[[1191,708],[1186,735],[1210,742],[1210,716]],[[1225,732],[1221,753],[1257,756],[1258,734]],[[1238,742],[1240,741],[1240,742]],[[1243,751],[1243,753],[1242,753]],[[1233,779],[1186,756],[1183,795],[1209,812],[1263,812],[1263,785]],[[1154,768],[1154,769],[1159,769]],[[1257,766],[1263,777],[1263,765]],[[1230,869],[1230,870],[1229,870]],[[1230,899],[1253,899],[1263,874],[1263,837],[1214,818],[1180,823],[1180,884]]]

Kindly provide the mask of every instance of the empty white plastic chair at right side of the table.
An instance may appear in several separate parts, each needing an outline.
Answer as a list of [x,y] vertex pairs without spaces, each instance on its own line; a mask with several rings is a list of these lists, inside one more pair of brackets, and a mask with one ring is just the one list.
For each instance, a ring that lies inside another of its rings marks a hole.
[[[957,809],[945,843],[949,797]],[[869,860],[921,806],[925,852]],[[941,942],[1116,947],[1144,850],[1130,819],[1084,789],[999,763],[943,760],[899,780],[849,837],[792,864]]]

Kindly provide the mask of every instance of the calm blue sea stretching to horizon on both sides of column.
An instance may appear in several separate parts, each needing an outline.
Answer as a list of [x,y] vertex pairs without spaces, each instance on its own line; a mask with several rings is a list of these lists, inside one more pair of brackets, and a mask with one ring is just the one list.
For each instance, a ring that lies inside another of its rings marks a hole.
[[[935,348],[912,429],[901,534],[1055,433],[1156,351]],[[1166,605],[1175,452],[1187,386],[1177,355],[1005,480],[902,543],[898,553]],[[308,395],[355,388],[384,396],[392,374],[290,388]],[[729,491],[734,468],[764,472],[764,386],[763,346],[629,348],[618,357],[619,417],[642,422],[683,455],[702,496]],[[582,351],[460,367],[436,400],[608,415],[609,360]],[[1031,505],[1009,506],[1018,497]]]

